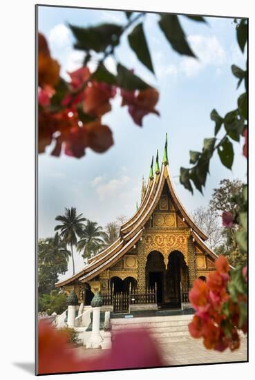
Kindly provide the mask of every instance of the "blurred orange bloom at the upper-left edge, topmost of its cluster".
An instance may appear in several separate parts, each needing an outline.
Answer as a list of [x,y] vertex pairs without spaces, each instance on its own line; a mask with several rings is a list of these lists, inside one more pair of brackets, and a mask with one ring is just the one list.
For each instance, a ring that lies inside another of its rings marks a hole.
[[44,35],[38,35],[38,84],[40,87],[56,86],[59,82],[60,66],[50,57],[47,41]]

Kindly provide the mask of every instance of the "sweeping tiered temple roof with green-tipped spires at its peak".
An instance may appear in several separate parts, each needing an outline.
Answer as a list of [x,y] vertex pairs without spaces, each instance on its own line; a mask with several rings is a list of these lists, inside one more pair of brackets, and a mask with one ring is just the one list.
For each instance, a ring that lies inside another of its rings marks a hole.
[[81,271],[77,272],[77,274],[74,274],[73,276],[70,276],[69,278],[66,278],[64,281],[59,281],[56,286],[62,287],[64,285],[71,285],[76,281],[79,283],[90,281],[92,278],[95,278],[95,276],[98,276],[106,269],[114,265],[122,256],[124,256],[124,254],[130,251],[133,246],[138,243],[140,238],[142,238],[144,226],[149,218],[151,218],[151,215],[160,200],[164,184],[167,184],[170,196],[178,208],[178,211],[182,216],[182,220],[185,222],[187,227],[191,229],[193,239],[203,251],[207,252],[207,254],[215,260],[217,257],[216,254],[214,254],[214,252],[211,251],[211,249],[209,249],[209,247],[205,244],[205,240],[207,240],[206,234],[196,225],[195,222],[193,222],[185,207],[178,199],[176,191],[173,189],[173,183],[169,174],[166,138],[161,169],[158,162],[157,152],[155,171],[153,173],[152,159],[149,181],[146,189],[144,189],[142,202],[135,214],[122,224],[119,238],[117,238],[117,240],[106,249],[103,249],[95,256],[88,258],[88,264]]

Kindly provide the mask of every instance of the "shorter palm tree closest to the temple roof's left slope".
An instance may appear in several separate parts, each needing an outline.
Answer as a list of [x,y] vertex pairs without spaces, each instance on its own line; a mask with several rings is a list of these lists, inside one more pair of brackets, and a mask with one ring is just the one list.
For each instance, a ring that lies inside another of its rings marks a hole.
[[102,235],[102,227],[98,226],[97,222],[87,220],[81,239],[77,244],[77,251],[83,251],[83,258],[90,256],[91,253],[96,254],[104,246]]

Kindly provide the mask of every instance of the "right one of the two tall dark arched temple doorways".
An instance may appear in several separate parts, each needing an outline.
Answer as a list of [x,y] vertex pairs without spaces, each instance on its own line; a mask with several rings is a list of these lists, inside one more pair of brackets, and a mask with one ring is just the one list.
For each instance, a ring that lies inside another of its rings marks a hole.
[[180,251],[172,251],[167,265],[164,304],[168,307],[180,307],[183,289],[188,287],[189,270],[185,257]]

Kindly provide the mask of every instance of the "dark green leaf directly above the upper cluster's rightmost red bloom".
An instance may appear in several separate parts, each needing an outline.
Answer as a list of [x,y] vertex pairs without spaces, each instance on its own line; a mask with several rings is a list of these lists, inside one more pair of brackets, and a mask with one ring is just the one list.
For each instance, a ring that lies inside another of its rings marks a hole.
[[121,88],[129,91],[146,90],[146,88],[151,87],[149,84],[133,74],[131,70],[121,64],[117,65],[117,84]]

